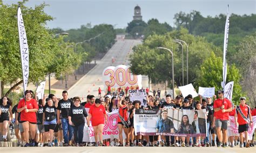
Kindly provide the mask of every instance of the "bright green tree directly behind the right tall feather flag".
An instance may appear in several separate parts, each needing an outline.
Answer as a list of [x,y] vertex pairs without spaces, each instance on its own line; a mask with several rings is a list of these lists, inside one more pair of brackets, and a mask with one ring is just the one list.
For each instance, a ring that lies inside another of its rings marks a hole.
[[[223,81],[223,60],[221,57],[216,57],[214,52],[210,53],[203,64],[200,66],[199,76],[196,86],[200,87],[215,87],[215,91],[222,89],[221,81]],[[241,74],[235,65],[227,65],[226,83],[234,81],[232,101],[235,105],[239,104],[239,98],[243,94],[240,85]]]

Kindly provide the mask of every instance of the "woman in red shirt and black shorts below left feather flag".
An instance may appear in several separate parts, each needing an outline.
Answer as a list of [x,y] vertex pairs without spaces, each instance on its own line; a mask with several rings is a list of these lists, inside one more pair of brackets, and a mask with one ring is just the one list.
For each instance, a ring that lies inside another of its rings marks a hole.
[[24,139],[26,144],[24,147],[29,147],[29,131],[31,133],[31,145],[35,145],[37,117],[38,110],[37,101],[32,99],[30,91],[25,92],[25,98],[19,101],[17,112],[21,112],[21,122],[24,129]]

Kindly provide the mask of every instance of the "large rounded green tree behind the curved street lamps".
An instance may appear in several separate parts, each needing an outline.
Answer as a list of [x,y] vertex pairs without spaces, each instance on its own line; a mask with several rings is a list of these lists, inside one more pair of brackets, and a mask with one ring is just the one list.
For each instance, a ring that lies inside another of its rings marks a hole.
[[[188,34],[186,29],[171,31],[164,35],[153,34],[144,41],[143,45],[134,47],[130,57],[131,71],[134,74],[147,75],[152,83],[171,83],[172,58],[169,52],[157,50],[157,47],[170,48],[174,54],[174,81],[177,86],[182,85],[182,56],[181,47],[173,40],[180,39],[188,44],[188,82],[194,83],[198,77],[198,71],[203,61],[210,55],[211,51],[218,54],[221,51],[214,45],[207,43],[202,37],[194,37]],[[185,49],[185,45],[184,45]],[[184,74],[186,74],[186,55],[184,50]],[[186,80],[186,75],[184,76]],[[186,82],[186,81],[185,81]],[[172,83],[171,83],[172,84]]]

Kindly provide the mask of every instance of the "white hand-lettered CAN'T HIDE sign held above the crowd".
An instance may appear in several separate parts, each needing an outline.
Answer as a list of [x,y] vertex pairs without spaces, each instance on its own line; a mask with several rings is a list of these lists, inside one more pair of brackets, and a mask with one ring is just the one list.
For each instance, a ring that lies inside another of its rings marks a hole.
[[129,94],[131,101],[139,100],[142,102],[142,106],[147,106],[146,89],[129,90]]

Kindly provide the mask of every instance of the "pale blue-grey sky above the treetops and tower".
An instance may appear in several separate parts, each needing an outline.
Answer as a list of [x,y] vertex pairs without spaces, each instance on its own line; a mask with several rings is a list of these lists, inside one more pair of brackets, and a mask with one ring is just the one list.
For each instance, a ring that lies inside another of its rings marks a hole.
[[[4,4],[17,2],[18,0],[3,0]],[[55,17],[55,20],[48,22],[48,26],[60,27],[64,30],[77,29],[87,23],[116,24],[116,28],[124,28],[132,21],[136,5],[142,9],[145,22],[157,18],[159,22],[167,22],[171,26],[174,15],[180,11],[190,13],[192,10],[197,10],[204,17],[214,17],[220,13],[226,14],[229,4],[230,14],[256,13],[255,0],[29,0],[26,6],[34,7],[43,2],[50,5],[46,6],[45,12]]]

